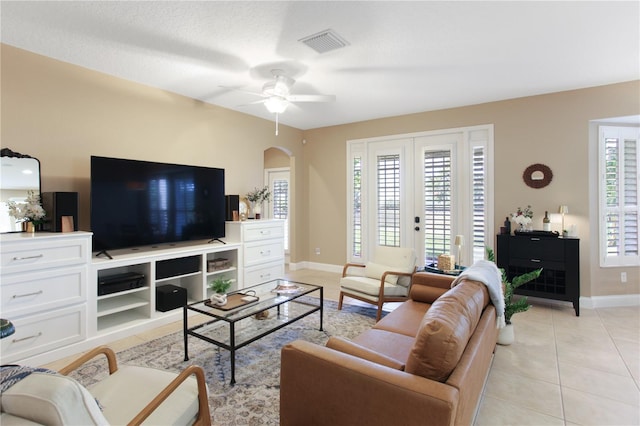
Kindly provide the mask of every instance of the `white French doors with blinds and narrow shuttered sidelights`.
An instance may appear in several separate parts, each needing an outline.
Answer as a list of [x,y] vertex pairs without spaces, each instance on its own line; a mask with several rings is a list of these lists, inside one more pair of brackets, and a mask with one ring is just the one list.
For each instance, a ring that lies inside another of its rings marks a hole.
[[376,245],[414,247],[420,266],[443,253],[463,265],[483,258],[493,236],[492,126],[409,136],[348,144],[348,260],[368,260]]

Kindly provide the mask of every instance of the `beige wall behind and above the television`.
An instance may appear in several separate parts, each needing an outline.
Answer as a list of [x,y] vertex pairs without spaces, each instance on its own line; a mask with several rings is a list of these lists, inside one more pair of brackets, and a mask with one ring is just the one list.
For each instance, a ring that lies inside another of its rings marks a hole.
[[[227,194],[263,184],[264,151],[302,131],[2,45],[1,145],[37,157],[43,191],[77,191],[89,229],[91,155],[225,169]],[[215,84],[215,82],[212,82]]]

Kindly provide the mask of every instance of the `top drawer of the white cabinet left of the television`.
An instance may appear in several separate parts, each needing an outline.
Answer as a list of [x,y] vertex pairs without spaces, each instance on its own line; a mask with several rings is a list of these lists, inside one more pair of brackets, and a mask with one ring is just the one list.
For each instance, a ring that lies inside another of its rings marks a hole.
[[70,239],[56,241],[55,245],[43,242],[12,245],[0,254],[2,275],[86,263],[89,256],[87,241]]

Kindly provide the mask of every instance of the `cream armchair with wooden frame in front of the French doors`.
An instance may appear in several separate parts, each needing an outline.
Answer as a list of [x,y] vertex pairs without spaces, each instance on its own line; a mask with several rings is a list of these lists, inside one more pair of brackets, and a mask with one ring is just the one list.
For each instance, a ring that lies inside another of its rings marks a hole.
[[412,248],[377,246],[370,262],[344,265],[338,309],[342,309],[344,296],[348,296],[376,305],[379,321],[384,303],[408,299],[415,270],[416,255]]

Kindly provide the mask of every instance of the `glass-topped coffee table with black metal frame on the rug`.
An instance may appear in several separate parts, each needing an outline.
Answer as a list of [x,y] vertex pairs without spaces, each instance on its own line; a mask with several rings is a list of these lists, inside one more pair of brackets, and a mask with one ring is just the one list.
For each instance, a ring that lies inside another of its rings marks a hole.
[[[228,299],[222,307],[209,300],[183,307],[184,360],[189,360],[188,336],[230,351],[232,385],[238,349],[315,312],[320,312],[322,331],[322,286],[278,279],[230,293]],[[193,312],[199,315],[189,315]]]

